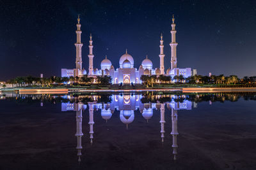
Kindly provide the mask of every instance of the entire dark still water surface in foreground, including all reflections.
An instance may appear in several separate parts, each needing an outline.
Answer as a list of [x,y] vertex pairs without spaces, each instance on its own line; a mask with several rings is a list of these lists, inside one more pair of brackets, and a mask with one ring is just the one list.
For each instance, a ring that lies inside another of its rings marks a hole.
[[256,94],[0,99],[0,169],[256,169]]

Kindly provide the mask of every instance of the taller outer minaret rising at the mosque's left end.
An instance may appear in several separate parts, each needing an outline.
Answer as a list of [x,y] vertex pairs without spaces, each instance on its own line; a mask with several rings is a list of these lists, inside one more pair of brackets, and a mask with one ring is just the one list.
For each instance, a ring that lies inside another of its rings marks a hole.
[[81,31],[81,24],[80,24],[79,15],[78,15],[78,18],[77,18],[76,26],[77,26],[76,43],[75,43],[75,46],[76,46],[76,69],[82,70],[82,46],[83,46],[83,43],[81,43],[82,31]]

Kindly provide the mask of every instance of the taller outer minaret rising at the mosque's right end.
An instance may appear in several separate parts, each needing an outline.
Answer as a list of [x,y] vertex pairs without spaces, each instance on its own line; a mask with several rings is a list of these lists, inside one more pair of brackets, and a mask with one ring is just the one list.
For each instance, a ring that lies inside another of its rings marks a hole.
[[177,50],[176,47],[178,43],[176,43],[176,30],[175,30],[176,24],[174,24],[174,15],[172,15],[172,43],[170,43],[171,46],[171,69],[177,68]]

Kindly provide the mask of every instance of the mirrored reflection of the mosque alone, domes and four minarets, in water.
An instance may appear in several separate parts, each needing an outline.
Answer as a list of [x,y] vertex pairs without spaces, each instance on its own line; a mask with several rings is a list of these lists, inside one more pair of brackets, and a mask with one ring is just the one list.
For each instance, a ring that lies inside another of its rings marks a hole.
[[[160,111],[160,124],[161,124],[161,141],[164,142],[164,111],[165,105],[168,110],[172,111],[172,137],[173,137],[173,155],[176,159],[177,155],[177,110],[191,110],[191,101],[181,101],[175,102],[174,99],[169,103],[141,103],[140,94],[123,94],[123,95],[113,95],[111,103],[97,103],[97,101],[90,102],[88,104],[83,103],[61,103],[61,111],[76,111],[76,122],[77,122],[77,156],[80,161],[82,143],[81,138],[83,136],[82,132],[82,111],[88,108],[89,110],[89,126],[90,126],[90,143],[93,142],[93,111],[100,111],[101,117],[106,120],[106,122],[112,117],[115,110],[120,111],[120,121],[126,125],[131,124],[134,121],[134,111],[140,110],[141,115],[145,120],[149,120],[153,116],[153,110]],[[175,97],[175,96],[174,96]],[[93,97],[95,98],[95,97]]]

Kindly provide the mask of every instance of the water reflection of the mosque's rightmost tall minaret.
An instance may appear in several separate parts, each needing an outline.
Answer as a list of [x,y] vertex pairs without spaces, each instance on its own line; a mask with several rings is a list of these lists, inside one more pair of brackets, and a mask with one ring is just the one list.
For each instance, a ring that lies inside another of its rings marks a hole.
[[176,155],[177,155],[177,148],[178,148],[178,145],[177,145],[177,136],[179,134],[178,132],[178,127],[177,127],[177,124],[178,124],[178,115],[177,115],[177,110],[173,110],[172,109],[172,147],[173,147],[173,155],[174,155],[174,160],[176,160]]

